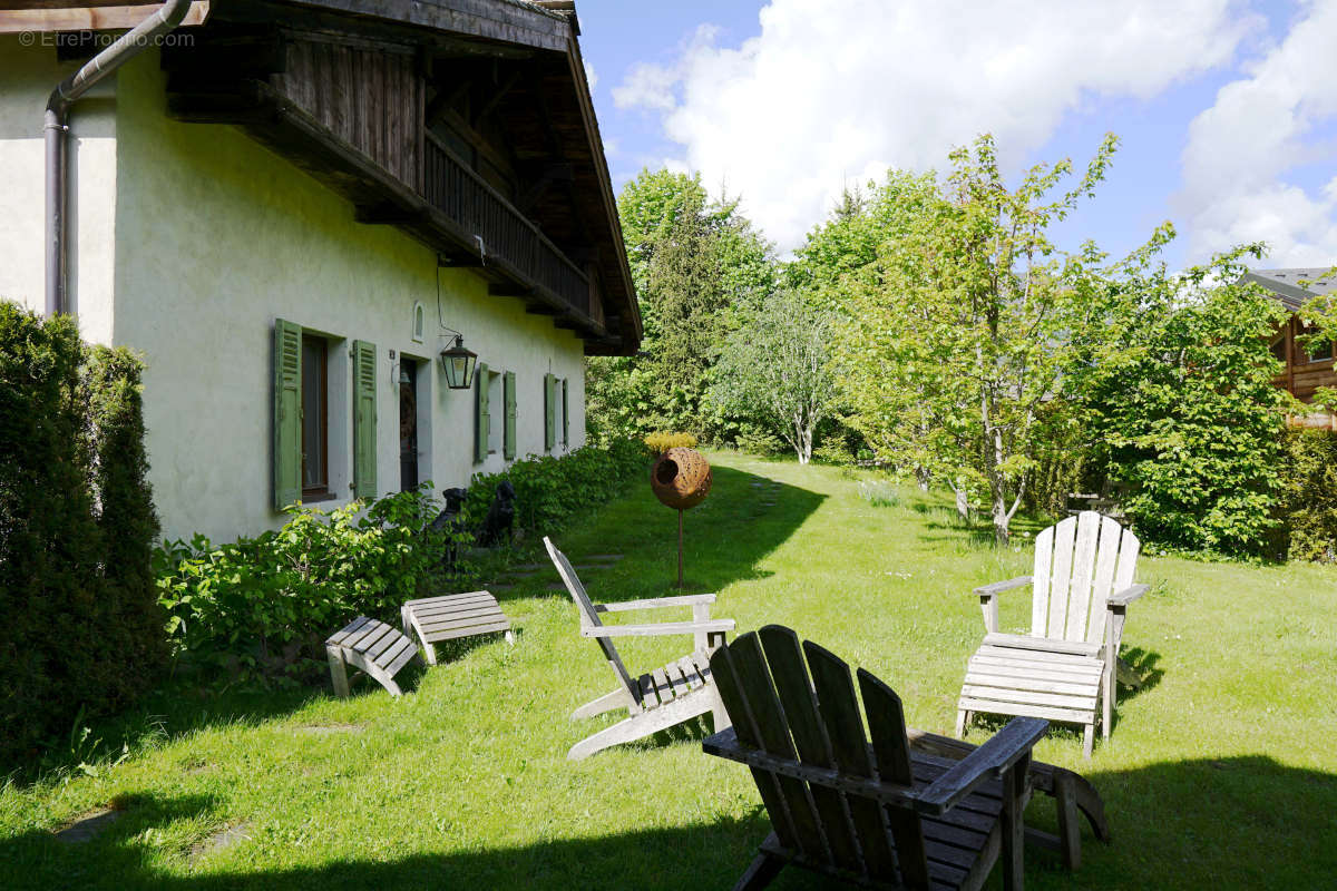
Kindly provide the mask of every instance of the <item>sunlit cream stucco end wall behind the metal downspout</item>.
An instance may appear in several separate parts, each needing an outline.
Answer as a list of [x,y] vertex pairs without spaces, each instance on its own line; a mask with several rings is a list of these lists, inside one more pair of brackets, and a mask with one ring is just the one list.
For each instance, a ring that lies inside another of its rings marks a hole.
[[[49,37],[51,35],[37,35]],[[43,111],[79,63],[56,63],[52,47],[24,47],[0,35],[0,298],[41,311],[45,192]],[[115,75],[75,106],[70,118],[70,299],[88,341],[111,342],[115,262]]]

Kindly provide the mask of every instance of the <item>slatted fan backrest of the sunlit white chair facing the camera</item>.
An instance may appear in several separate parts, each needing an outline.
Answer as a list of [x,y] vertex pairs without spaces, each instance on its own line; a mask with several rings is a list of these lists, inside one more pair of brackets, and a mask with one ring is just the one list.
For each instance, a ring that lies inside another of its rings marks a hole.
[[1106,601],[1132,584],[1142,542],[1110,517],[1083,510],[1035,537],[1031,635],[1104,640]]

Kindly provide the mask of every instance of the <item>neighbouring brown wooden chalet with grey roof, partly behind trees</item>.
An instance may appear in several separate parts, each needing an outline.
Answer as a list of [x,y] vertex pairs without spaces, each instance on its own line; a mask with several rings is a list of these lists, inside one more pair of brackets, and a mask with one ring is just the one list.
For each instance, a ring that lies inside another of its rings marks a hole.
[[[1297,315],[1300,307],[1313,297],[1337,290],[1337,281],[1325,279],[1326,274],[1328,269],[1274,269],[1254,270],[1243,277],[1243,281],[1267,289],[1277,302],[1290,311],[1290,317],[1273,335],[1271,353],[1286,363],[1285,371],[1275,378],[1277,386],[1301,402],[1310,402],[1318,387],[1337,387],[1333,343],[1320,341],[1305,346],[1296,339],[1309,333],[1308,326]],[[1292,423],[1337,429],[1337,419],[1326,411],[1293,417]]]

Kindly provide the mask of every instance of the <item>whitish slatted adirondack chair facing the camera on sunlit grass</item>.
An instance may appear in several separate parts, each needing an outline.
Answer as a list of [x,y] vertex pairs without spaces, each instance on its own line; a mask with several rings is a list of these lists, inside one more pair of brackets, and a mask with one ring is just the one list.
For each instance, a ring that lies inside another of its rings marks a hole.
[[[1091,757],[1098,705],[1110,737],[1119,641],[1128,604],[1147,593],[1132,582],[1142,542],[1110,517],[1084,510],[1035,537],[1035,572],[976,588],[984,610],[984,644],[965,669],[956,735],[971,716],[1021,715],[1083,724]],[[997,596],[1029,585],[1031,633],[999,631]]]

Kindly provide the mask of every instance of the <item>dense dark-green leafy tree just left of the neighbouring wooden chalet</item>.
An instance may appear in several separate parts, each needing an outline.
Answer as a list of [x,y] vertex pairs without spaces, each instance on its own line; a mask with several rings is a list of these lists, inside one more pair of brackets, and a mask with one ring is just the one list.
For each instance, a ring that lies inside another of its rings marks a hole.
[[1108,477],[1144,537],[1191,550],[1262,553],[1277,526],[1290,395],[1267,342],[1285,311],[1239,282],[1238,247],[1171,274],[1165,227],[1087,291],[1099,307],[1070,385]]

